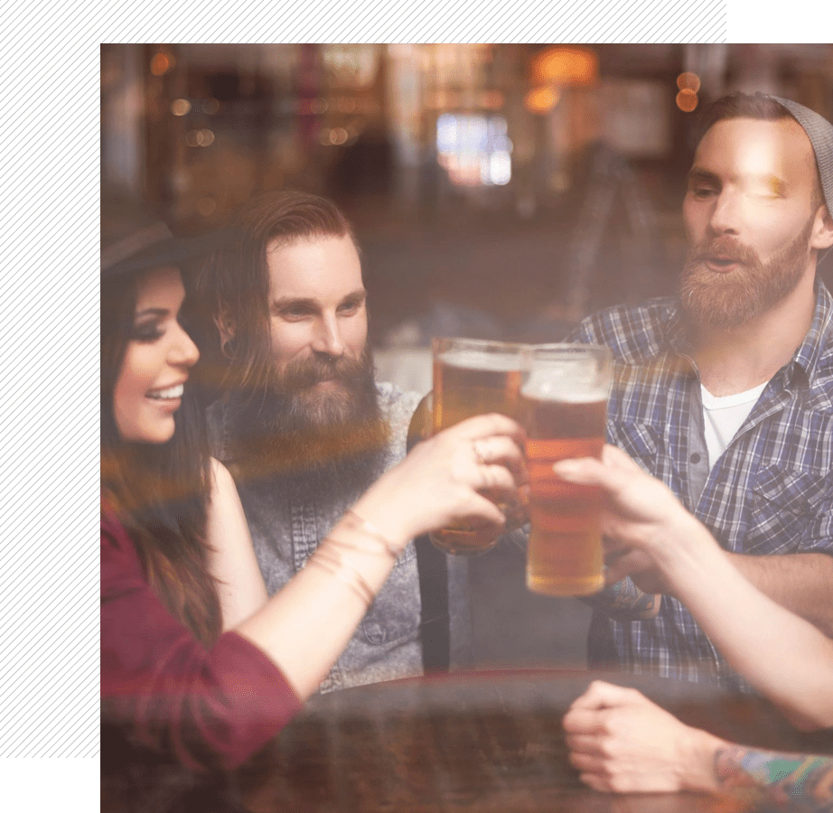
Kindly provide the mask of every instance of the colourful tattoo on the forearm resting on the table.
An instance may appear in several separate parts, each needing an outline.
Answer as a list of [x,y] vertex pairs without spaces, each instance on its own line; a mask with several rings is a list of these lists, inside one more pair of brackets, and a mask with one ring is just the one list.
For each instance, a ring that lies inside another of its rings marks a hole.
[[833,757],[730,745],[717,749],[715,776],[720,789],[755,788],[768,799],[833,811]]

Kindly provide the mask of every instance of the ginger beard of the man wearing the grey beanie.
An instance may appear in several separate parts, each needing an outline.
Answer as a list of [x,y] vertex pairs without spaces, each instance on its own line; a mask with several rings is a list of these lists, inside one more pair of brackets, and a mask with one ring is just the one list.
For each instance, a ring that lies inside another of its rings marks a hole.
[[[732,330],[752,322],[782,302],[798,286],[807,268],[813,220],[768,263],[752,248],[723,236],[689,249],[680,284],[680,301],[696,325]],[[706,267],[707,257],[719,254],[740,267],[719,274]]]

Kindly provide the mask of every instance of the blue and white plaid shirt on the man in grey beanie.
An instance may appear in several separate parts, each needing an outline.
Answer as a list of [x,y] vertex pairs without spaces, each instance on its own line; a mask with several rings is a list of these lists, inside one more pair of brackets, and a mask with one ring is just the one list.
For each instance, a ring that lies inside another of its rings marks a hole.
[[[606,310],[570,339],[613,350],[608,441],[665,482],[725,550],[833,555],[833,298],[824,285],[817,282],[804,341],[710,472],[700,382],[676,300]],[[650,621],[613,621],[597,609],[588,655],[591,668],[613,663],[752,691],[669,596]]]

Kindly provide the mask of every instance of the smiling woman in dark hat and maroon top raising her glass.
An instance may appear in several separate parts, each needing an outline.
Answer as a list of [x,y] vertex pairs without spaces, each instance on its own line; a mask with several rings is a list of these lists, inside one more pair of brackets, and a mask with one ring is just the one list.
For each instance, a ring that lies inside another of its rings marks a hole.
[[514,489],[522,463],[504,416],[420,444],[268,599],[188,385],[199,352],[179,266],[191,250],[168,239],[102,255],[102,717],[149,752],[228,769],[315,691],[407,540],[460,519],[501,525],[479,491]]

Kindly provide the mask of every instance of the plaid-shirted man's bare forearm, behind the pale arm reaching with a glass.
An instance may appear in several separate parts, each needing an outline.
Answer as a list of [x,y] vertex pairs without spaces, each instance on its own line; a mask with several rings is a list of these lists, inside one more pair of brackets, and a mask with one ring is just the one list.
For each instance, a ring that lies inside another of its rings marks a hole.
[[787,556],[726,554],[762,593],[807,619],[833,638],[833,556],[820,553]]

